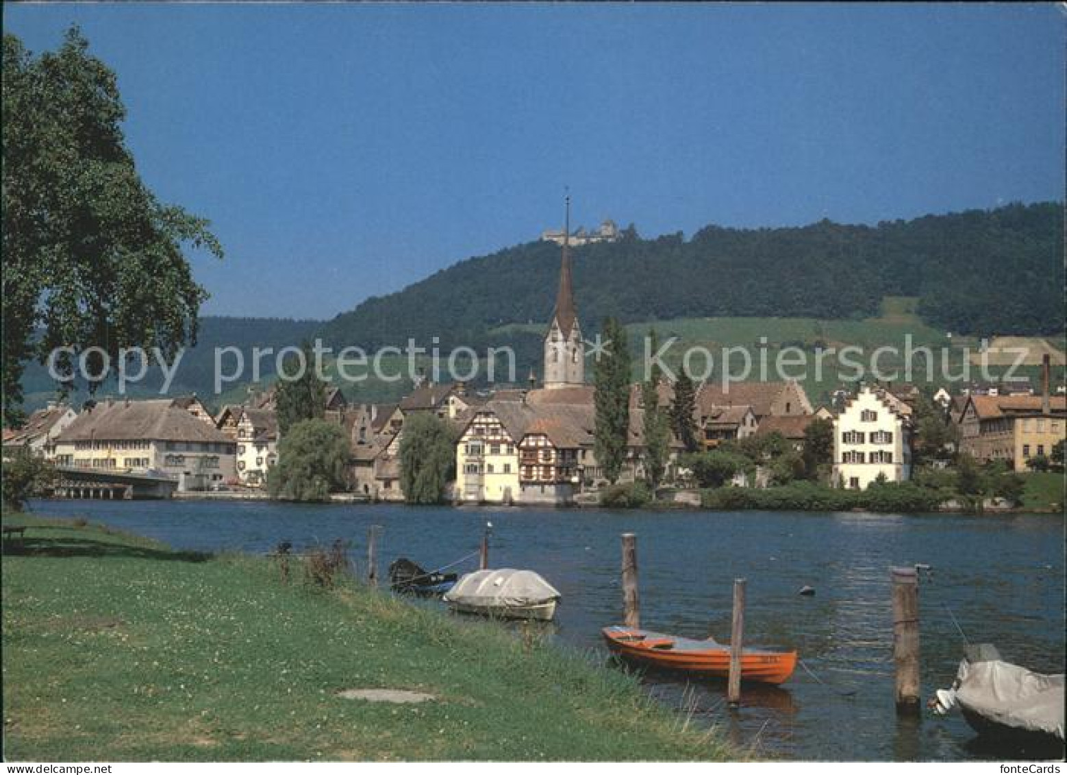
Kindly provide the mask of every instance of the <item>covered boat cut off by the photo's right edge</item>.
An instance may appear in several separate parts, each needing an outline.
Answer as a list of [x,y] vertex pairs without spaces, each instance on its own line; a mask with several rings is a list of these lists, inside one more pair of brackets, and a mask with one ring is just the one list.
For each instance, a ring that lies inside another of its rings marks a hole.
[[1020,745],[1064,745],[1064,675],[1033,673],[1004,662],[990,644],[969,646],[951,689],[930,708],[944,715],[958,707],[978,737]]

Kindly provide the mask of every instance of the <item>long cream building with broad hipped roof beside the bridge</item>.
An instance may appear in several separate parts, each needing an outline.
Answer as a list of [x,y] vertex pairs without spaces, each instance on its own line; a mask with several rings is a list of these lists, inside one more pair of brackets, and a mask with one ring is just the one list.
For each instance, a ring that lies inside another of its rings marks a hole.
[[107,400],[86,408],[55,439],[55,462],[99,471],[165,474],[179,490],[236,475],[236,444],[172,399]]

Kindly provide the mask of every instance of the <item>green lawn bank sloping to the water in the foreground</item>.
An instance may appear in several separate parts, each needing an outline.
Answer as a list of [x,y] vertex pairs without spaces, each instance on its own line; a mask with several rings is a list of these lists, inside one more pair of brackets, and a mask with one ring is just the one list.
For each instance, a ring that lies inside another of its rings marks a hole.
[[[3,559],[7,760],[720,759],[592,658],[354,586],[283,584],[21,516]],[[347,689],[433,694],[350,700]]]

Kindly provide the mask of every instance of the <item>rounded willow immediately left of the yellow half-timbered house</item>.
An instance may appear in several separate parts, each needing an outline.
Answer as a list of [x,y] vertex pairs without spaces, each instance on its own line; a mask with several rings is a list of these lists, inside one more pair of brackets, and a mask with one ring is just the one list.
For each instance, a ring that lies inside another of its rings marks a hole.
[[400,488],[413,504],[445,500],[448,483],[456,478],[456,429],[432,412],[415,412],[400,436]]

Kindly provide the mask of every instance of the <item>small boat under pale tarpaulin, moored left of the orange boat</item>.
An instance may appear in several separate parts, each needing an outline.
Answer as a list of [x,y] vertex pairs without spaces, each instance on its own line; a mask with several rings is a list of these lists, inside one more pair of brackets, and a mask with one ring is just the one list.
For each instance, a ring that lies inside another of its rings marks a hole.
[[444,600],[461,614],[550,621],[561,597],[531,570],[500,568],[466,573],[445,592]]

